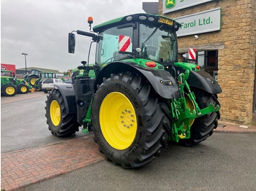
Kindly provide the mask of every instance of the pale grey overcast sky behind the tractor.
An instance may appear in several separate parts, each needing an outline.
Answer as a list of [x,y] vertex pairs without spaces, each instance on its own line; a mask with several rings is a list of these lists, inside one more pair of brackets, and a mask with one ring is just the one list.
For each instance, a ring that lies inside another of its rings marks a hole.
[[[71,31],[89,31],[92,26],[144,12],[143,2],[157,0],[1,0],[1,63],[54,69],[75,69],[87,61],[90,37],[76,35],[75,54],[69,54],[67,36]],[[91,61],[91,59],[90,59]]]

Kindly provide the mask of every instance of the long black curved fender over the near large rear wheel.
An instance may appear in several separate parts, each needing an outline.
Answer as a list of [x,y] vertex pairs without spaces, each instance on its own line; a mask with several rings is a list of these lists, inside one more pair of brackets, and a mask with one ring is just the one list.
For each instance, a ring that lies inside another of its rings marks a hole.
[[94,84],[94,89],[97,90],[97,85],[100,85],[103,81],[103,77],[110,77],[110,74],[118,74],[122,71],[131,71],[132,73],[138,73],[143,75],[148,82],[151,83],[154,90],[162,97],[166,99],[179,98],[180,91],[176,80],[165,70],[145,69],[140,66],[136,66],[134,63],[110,63],[105,66],[97,77],[97,81]]

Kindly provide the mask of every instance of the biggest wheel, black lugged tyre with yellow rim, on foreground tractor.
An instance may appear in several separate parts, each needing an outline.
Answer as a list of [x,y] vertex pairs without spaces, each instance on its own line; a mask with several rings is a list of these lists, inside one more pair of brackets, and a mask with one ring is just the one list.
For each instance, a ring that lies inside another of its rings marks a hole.
[[123,168],[138,168],[166,146],[159,95],[139,75],[111,74],[94,96],[95,141],[107,160]]

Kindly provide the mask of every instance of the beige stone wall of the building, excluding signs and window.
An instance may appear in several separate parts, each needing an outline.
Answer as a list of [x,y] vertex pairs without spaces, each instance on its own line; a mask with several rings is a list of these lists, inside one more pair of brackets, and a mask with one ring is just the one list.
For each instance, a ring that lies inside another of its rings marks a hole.
[[[159,14],[162,1],[165,0],[159,0]],[[217,7],[222,9],[221,31],[198,34],[197,40],[193,36],[179,37],[179,51],[189,47],[218,50],[221,120],[249,123],[255,82],[256,1],[216,0],[165,15],[174,18]]]

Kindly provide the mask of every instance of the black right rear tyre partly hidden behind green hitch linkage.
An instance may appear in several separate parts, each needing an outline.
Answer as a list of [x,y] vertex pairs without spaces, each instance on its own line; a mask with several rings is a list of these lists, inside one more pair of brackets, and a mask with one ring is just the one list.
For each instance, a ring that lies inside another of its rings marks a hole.
[[[208,104],[219,105],[217,95],[207,93],[203,90],[195,89],[192,90],[195,93],[197,104],[200,109],[203,109],[208,106]],[[220,117],[218,112],[211,112],[209,114],[198,117],[193,122],[190,128],[190,138],[181,139],[181,144],[185,146],[192,146],[200,143],[201,141],[206,140],[209,136],[212,135],[214,128],[217,128],[218,121]]]

